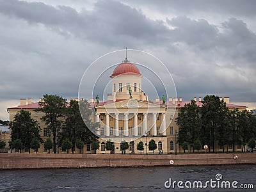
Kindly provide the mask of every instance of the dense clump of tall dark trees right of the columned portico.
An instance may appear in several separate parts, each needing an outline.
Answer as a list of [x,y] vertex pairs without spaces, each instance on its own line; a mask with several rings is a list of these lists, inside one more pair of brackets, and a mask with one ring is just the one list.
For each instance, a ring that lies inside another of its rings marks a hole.
[[196,106],[195,101],[180,108],[176,118],[179,125],[178,142],[184,141],[193,145],[200,140],[216,152],[216,145],[223,148],[232,144],[235,152],[236,145],[242,144],[243,151],[250,138],[256,138],[256,118],[247,110],[228,109],[225,102],[218,96],[206,95],[202,101],[202,108]]

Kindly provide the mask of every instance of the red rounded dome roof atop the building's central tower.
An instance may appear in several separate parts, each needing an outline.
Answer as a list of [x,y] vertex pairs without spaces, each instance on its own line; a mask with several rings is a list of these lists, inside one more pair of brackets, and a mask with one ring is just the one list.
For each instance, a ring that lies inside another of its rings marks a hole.
[[120,75],[141,76],[140,70],[132,63],[121,63],[117,65],[111,77]]

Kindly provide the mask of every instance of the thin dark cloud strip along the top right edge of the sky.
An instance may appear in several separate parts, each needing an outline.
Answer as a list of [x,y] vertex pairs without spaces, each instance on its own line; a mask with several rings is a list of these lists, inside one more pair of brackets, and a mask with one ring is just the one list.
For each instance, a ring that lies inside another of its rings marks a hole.
[[[123,0],[125,3],[131,2]],[[232,14],[237,16],[255,17],[256,1],[254,0],[163,0],[163,1],[132,1],[138,6],[147,6],[161,13],[188,15],[189,13],[205,12],[209,14]]]

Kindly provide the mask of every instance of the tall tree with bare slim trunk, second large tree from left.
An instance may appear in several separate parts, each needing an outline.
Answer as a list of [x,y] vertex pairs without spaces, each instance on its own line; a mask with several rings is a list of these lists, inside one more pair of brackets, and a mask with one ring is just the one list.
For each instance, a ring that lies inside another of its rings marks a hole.
[[39,102],[40,108],[36,111],[44,112],[41,120],[47,125],[47,132],[53,136],[53,152],[57,153],[56,138],[60,134],[62,120],[64,118],[64,109],[67,107],[67,100],[58,95],[44,95],[42,101]]

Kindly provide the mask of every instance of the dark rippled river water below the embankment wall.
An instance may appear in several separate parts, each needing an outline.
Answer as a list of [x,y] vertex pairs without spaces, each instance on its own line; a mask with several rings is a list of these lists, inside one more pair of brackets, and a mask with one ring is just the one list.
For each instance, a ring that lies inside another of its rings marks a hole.
[[256,191],[256,166],[0,170],[0,191]]

